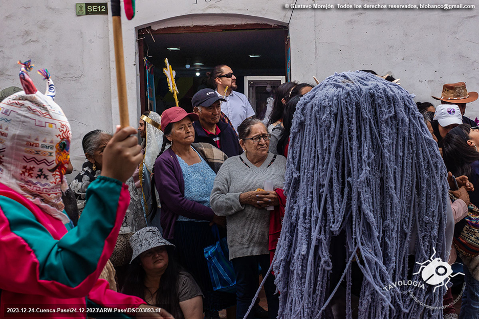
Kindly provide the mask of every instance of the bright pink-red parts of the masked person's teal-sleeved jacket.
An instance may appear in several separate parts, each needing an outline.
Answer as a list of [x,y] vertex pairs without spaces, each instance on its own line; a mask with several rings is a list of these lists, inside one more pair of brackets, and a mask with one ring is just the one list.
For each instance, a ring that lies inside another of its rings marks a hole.
[[[36,222],[45,227],[53,239],[60,240],[67,234],[66,227],[59,219],[43,213],[38,206],[19,193],[3,184],[0,184],[0,193],[2,196],[11,198],[27,208],[35,216]],[[0,264],[2,264],[0,288],[3,289],[0,299],[0,318],[6,315],[6,308],[20,307],[21,305],[25,305],[24,308],[31,308],[36,305],[35,307],[41,309],[85,308],[85,297],[91,298],[100,305],[115,303],[118,305],[117,308],[122,309],[136,308],[144,304],[145,302],[137,297],[105,292],[108,282],[98,279],[115,247],[117,234],[123,222],[128,203],[128,187],[123,184],[117,207],[115,227],[105,240],[97,269],[76,287],[69,287],[56,281],[39,279],[39,261],[35,252],[22,237],[11,231],[10,222],[0,209],[0,251],[2,252],[0,255]],[[26,219],[25,227],[33,226],[29,223],[31,221]],[[38,240],[41,240],[41,238],[38,238]],[[112,290],[112,292],[114,291]],[[68,315],[85,317],[85,313],[80,312],[69,313]]]

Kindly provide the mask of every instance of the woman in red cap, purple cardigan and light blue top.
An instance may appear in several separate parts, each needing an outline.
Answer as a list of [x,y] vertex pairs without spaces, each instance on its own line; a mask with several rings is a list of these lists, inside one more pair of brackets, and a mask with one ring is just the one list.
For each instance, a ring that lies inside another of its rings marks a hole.
[[[180,264],[203,290],[206,318],[219,318],[218,310],[233,306],[236,295],[213,291],[203,248],[215,242],[212,224],[225,224],[225,219],[211,210],[209,199],[226,155],[210,144],[192,145],[195,120],[197,115],[181,107],[162,113],[164,138],[154,178],[161,202],[163,237],[176,245]],[[171,146],[165,150],[167,144]]]

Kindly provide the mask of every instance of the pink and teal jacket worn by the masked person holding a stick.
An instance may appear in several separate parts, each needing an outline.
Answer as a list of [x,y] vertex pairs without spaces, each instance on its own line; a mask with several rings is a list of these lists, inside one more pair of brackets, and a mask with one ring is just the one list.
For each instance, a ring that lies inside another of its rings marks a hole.
[[[129,203],[128,187],[100,176],[89,185],[86,200],[78,225],[72,228],[0,183],[0,318],[21,316],[7,313],[7,308],[98,310],[146,304],[108,289],[108,282],[98,279],[115,247]],[[86,317],[78,310],[66,315]],[[115,317],[130,315],[134,314]]]

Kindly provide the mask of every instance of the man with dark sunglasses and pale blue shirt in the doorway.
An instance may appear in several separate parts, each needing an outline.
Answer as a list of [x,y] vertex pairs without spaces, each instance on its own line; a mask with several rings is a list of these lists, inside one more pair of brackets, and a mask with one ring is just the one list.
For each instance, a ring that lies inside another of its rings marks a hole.
[[227,65],[217,65],[214,67],[212,76],[214,77],[214,85],[216,86],[216,94],[219,97],[225,96],[226,102],[221,103],[221,110],[231,121],[235,130],[247,118],[255,116],[253,107],[251,107],[248,98],[241,93],[235,92],[238,88],[236,85],[236,77],[231,68]]

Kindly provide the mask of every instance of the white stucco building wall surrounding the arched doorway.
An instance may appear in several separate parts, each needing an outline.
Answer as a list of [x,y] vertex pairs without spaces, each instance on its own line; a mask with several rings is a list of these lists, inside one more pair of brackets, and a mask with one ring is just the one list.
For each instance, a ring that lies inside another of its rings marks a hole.
[[[440,95],[442,84],[465,81],[479,90],[479,5],[472,10],[286,9],[293,0],[141,0],[133,20],[122,17],[130,124],[140,112],[137,30],[206,24],[266,22],[288,25],[292,79],[313,82],[334,72],[392,73],[417,101]],[[215,2],[216,1],[216,2]],[[381,4],[401,4],[384,0]],[[326,4],[298,0],[296,4]],[[339,1],[345,4],[348,2]],[[364,0],[350,4],[377,4]],[[475,4],[461,0],[462,4]],[[333,3],[331,3],[333,4]],[[418,3],[419,4],[419,3]],[[72,159],[81,168],[81,136],[119,123],[111,17],[76,16],[62,0],[3,0],[0,13],[0,88],[19,86],[18,59],[47,68],[56,101],[71,121]],[[43,90],[41,77],[31,73]],[[479,102],[466,115],[479,116]]]

